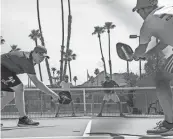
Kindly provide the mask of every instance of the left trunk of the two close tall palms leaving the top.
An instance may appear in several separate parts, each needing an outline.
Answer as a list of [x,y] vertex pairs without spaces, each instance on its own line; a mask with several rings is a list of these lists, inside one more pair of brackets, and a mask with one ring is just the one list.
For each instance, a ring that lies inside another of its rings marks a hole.
[[60,60],[60,82],[63,80],[63,54],[64,54],[64,6],[61,0],[61,15],[62,15],[62,44],[61,44],[61,60]]

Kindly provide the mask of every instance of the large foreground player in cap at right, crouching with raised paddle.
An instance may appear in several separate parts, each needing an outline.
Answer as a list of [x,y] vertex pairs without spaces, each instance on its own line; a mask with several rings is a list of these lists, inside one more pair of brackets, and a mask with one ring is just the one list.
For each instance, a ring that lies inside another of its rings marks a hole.
[[[158,0],[137,0],[133,9],[143,19],[140,30],[140,44],[133,58],[148,57],[162,52],[168,45],[173,46],[173,6],[158,6]],[[149,49],[152,41],[160,42]],[[147,130],[149,134],[173,135],[173,101],[170,82],[173,79],[173,56],[162,58],[163,65],[152,76],[156,84],[157,97],[163,109],[165,119],[157,127]]]

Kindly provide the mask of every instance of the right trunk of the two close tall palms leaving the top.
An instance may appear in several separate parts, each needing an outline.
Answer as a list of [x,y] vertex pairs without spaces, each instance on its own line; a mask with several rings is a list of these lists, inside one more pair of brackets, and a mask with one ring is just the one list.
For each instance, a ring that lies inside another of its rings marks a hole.
[[[70,47],[70,38],[71,38],[72,15],[71,15],[71,8],[70,8],[70,0],[68,0],[68,9],[69,9],[69,15],[68,15],[68,35],[67,35],[66,54],[67,54],[67,52],[68,52],[68,50],[69,50],[69,47]],[[66,75],[67,60],[68,60],[68,59],[65,59],[63,77]]]

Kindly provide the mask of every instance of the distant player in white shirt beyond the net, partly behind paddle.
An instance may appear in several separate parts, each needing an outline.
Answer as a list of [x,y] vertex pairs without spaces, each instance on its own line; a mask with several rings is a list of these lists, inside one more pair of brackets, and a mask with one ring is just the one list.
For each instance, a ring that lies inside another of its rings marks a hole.
[[[67,75],[64,76],[64,81],[62,81],[60,83],[60,86],[63,89],[63,91],[70,92],[70,87],[72,86],[72,83],[68,81],[68,76]],[[75,116],[73,101],[71,101],[71,106],[72,106],[72,116]],[[60,108],[61,108],[61,104],[59,104],[56,107],[56,115],[55,115],[55,117],[58,117],[59,116]]]

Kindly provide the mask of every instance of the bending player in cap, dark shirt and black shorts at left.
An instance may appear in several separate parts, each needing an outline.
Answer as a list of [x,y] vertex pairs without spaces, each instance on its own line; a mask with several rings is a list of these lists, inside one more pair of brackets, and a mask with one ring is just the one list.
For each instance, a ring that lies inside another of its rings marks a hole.
[[27,73],[29,78],[41,91],[51,95],[54,100],[59,100],[59,95],[50,90],[38,80],[34,65],[40,64],[47,56],[45,47],[37,46],[31,52],[14,51],[1,55],[1,91],[6,95],[1,98],[1,110],[14,98],[19,111],[18,126],[39,125],[31,120],[25,112],[24,85],[17,77],[18,74]]

